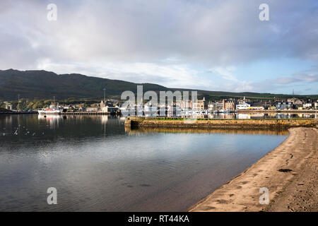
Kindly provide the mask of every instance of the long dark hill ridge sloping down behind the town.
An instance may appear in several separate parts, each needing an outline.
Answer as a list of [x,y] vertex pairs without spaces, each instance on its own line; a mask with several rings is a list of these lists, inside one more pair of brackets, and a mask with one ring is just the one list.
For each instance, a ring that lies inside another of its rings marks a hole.
[[[0,70],[1,100],[16,100],[18,94],[20,94],[20,97],[30,100],[35,98],[52,99],[53,96],[55,96],[57,100],[68,98],[100,98],[103,96],[104,88],[106,88],[107,96],[119,96],[125,90],[131,90],[136,93],[137,85],[143,85],[143,92],[148,90],[186,90],[167,88],[163,85],[152,83],[140,84],[108,78],[97,78],[78,73],[57,74],[51,71]],[[291,97],[291,95],[277,95],[270,93],[232,93],[208,90],[198,90],[198,94],[211,97]],[[310,96],[318,97],[318,95]]]

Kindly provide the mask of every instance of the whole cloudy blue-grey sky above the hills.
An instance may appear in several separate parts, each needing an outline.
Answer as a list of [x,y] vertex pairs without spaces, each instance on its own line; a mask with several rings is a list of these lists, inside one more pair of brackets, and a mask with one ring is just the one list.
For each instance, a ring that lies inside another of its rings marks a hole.
[[318,94],[317,0],[1,0],[0,47],[0,70]]

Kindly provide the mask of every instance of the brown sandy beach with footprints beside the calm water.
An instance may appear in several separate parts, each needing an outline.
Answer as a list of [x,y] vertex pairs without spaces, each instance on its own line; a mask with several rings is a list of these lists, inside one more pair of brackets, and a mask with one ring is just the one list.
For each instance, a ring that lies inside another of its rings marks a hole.
[[[281,145],[189,211],[318,211],[318,129],[288,131]],[[269,204],[259,203],[263,187]]]

